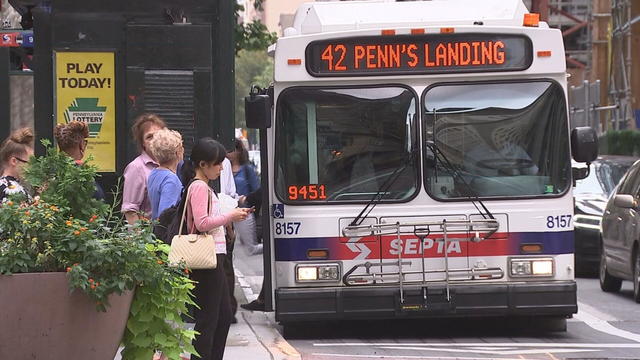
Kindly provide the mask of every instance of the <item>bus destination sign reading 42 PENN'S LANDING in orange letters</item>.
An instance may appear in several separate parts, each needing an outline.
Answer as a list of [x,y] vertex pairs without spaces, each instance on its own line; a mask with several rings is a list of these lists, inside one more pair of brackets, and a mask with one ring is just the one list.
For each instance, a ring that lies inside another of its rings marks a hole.
[[531,40],[511,34],[352,37],[306,49],[307,71],[316,77],[521,71],[532,60]]

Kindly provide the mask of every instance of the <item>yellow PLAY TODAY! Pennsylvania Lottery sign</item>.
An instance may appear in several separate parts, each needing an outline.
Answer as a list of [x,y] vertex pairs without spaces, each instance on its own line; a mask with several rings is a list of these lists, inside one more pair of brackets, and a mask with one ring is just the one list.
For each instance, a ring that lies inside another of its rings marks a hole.
[[101,172],[116,171],[113,52],[56,52],[56,123],[89,125],[87,155]]

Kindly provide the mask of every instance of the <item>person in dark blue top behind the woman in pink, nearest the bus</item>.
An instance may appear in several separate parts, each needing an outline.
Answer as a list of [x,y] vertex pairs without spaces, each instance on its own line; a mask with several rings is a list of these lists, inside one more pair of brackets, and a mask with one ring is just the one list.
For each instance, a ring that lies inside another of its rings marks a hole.
[[[260,180],[253,165],[249,162],[249,152],[241,139],[235,140],[233,151],[227,153],[227,158],[231,161],[236,193],[240,196],[247,196],[258,190]],[[258,244],[256,219],[253,213],[246,220],[236,223],[235,227],[237,239],[249,246],[251,254],[262,252],[262,244]]]

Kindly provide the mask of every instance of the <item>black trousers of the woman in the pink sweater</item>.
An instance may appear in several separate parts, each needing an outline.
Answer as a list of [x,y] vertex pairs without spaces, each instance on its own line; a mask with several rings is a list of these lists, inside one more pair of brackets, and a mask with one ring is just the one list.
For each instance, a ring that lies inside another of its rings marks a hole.
[[193,270],[191,279],[196,281],[193,291],[198,308],[194,309],[195,330],[200,333],[193,340],[200,357],[191,359],[222,360],[224,347],[231,326],[229,288],[224,272],[226,255],[218,254],[218,266],[211,270]]

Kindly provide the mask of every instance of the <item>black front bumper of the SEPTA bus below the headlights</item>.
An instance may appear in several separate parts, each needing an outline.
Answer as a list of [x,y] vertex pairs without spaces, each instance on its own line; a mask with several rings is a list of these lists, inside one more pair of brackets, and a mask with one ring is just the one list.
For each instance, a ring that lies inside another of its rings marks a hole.
[[[327,288],[279,288],[280,322],[456,316],[570,316],[575,281]],[[425,300],[426,298],[426,300]],[[447,300],[447,298],[449,300]]]

